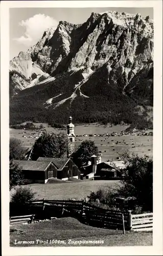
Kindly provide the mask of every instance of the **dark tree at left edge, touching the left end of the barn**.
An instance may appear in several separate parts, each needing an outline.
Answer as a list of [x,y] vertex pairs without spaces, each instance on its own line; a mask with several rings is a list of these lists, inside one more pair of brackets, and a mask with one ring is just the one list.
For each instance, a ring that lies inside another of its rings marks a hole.
[[17,163],[10,161],[10,190],[16,186],[24,183],[24,174],[22,169],[18,167]]

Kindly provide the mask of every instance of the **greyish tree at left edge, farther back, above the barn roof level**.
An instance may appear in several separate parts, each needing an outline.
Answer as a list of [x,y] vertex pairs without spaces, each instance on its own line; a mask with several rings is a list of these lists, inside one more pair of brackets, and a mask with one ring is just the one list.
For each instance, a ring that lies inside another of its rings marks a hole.
[[10,160],[22,160],[25,157],[25,154],[28,152],[28,148],[22,147],[22,142],[16,138],[10,138]]

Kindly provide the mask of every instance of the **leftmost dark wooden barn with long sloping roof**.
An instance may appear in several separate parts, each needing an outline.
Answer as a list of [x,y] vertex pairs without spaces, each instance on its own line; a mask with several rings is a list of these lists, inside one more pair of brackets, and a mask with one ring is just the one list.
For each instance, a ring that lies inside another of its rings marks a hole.
[[[13,160],[22,169],[27,184],[46,183],[49,178],[57,178],[57,168],[52,161]],[[12,169],[10,169],[10,174]]]

